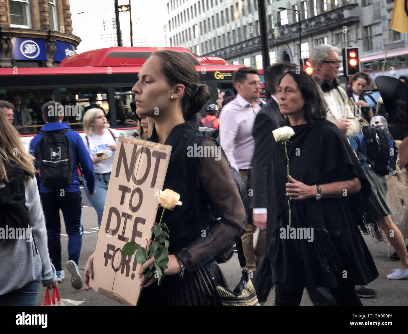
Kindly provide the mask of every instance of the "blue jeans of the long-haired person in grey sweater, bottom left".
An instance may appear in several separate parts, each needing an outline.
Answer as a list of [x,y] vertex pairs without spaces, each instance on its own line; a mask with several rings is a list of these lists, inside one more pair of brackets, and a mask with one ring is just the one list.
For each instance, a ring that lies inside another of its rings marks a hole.
[[0,296],[1,306],[35,306],[41,285],[41,275],[20,289]]

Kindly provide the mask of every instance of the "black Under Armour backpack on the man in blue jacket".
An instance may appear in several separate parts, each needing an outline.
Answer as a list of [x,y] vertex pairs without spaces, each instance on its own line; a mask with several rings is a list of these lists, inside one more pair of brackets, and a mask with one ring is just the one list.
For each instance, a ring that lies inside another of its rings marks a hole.
[[43,137],[35,156],[44,187],[64,189],[71,184],[72,150],[68,137],[64,135],[68,131],[71,129],[39,132]]

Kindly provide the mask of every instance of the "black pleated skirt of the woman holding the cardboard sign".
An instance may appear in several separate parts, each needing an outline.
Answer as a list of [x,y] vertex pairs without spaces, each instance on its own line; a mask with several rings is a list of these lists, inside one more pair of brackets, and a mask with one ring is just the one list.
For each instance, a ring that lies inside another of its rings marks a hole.
[[210,263],[196,272],[184,272],[184,279],[178,275],[164,276],[157,282],[143,288],[138,305],[216,305],[215,286],[228,288],[228,283],[217,262]]

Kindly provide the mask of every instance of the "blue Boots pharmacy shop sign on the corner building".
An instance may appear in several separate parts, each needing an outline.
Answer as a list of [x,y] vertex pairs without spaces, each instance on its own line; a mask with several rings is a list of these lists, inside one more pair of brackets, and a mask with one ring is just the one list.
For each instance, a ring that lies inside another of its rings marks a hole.
[[[13,44],[13,59],[15,60],[47,60],[45,40],[15,37],[11,43]],[[56,47],[54,53],[56,62],[75,54],[75,47],[72,44],[56,41],[54,45]]]

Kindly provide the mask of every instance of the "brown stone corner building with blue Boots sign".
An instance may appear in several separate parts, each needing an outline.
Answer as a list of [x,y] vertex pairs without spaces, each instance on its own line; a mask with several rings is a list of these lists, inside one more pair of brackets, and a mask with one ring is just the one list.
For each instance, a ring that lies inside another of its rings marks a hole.
[[0,67],[53,67],[75,54],[69,0],[0,0]]

